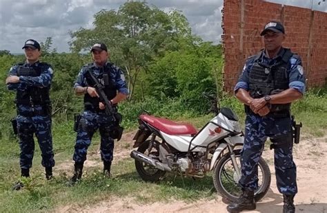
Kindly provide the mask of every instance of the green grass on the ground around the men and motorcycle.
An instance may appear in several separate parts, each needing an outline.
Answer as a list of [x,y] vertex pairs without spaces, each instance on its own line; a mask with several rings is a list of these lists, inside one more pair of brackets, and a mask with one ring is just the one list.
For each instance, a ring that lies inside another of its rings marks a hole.
[[[303,100],[293,104],[293,113],[296,115],[297,122],[301,121],[304,124],[301,130],[304,135],[313,135],[313,137],[326,135],[326,102],[325,91],[309,91]],[[135,112],[134,122],[132,122],[132,115],[125,113],[129,129],[137,128],[137,111],[143,107],[141,105],[137,105],[137,109],[132,109]],[[132,107],[132,104],[129,106]],[[239,115],[241,124],[244,124],[243,106],[235,98],[225,98],[221,101],[221,106],[232,106],[231,108],[235,109]],[[175,104],[174,107],[177,109]],[[155,110],[155,107],[152,110]],[[165,106],[157,114],[165,117],[171,115],[173,119],[190,122],[197,128],[201,128],[212,118],[212,115],[196,115],[193,112],[184,112],[177,116],[178,111],[169,113],[168,110],[169,107]],[[54,122],[52,133],[56,165],[68,162],[72,168],[72,153],[76,137],[75,132],[72,131],[72,122]],[[48,212],[65,205],[76,205],[82,208],[111,197],[128,197],[141,204],[173,200],[191,202],[198,199],[214,199],[216,194],[210,175],[195,180],[167,175],[158,183],[143,182],[137,175],[134,161],[129,157],[120,161],[114,159],[113,179],[103,177],[101,166],[86,168],[82,181],[70,187],[67,182],[72,171],[56,167],[55,178],[52,181],[46,181],[37,144],[31,178],[22,180],[26,183],[23,190],[12,191],[12,184],[19,179],[20,175],[19,144],[12,135],[2,137],[0,143],[0,212]],[[131,145],[126,142],[119,142],[119,144],[123,148],[132,150]],[[99,135],[96,134],[88,152],[96,153],[98,148]],[[100,161],[100,157],[96,157]]]

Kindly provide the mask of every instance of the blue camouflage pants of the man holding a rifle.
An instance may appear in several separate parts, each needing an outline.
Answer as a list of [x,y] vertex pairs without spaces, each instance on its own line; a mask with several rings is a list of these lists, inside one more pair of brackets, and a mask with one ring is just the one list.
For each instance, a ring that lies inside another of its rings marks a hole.
[[98,128],[101,136],[101,159],[103,161],[112,161],[114,151],[114,139],[110,137],[110,133],[114,128],[112,116],[84,111],[79,121],[75,153],[72,157],[75,162],[83,163],[86,161],[88,146],[90,146],[92,136]]

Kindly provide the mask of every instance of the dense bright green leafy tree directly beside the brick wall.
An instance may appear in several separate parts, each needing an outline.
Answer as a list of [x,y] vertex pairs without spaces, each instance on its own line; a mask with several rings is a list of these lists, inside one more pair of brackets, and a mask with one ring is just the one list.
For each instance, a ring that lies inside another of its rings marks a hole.
[[[208,103],[201,94],[208,88],[221,89],[221,45],[210,42],[179,42],[179,50],[166,52],[149,66],[143,94],[157,100],[178,98],[184,109],[203,112]],[[142,96],[142,97],[143,97]]]

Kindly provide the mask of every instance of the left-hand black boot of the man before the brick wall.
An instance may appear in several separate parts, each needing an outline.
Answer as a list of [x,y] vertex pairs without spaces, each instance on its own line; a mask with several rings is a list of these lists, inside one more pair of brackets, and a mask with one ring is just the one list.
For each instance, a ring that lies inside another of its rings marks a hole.
[[255,193],[250,190],[242,189],[243,193],[238,201],[227,206],[228,212],[241,212],[243,210],[255,210]]

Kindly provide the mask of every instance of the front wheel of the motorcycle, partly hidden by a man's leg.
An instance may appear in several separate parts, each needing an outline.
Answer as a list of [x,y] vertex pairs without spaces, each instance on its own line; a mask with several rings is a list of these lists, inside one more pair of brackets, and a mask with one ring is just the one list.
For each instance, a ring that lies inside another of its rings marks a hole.
[[[241,150],[234,151],[237,165],[240,166]],[[237,201],[241,195],[241,187],[238,185],[238,179],[234,167],[232,166],[230,153],[227,153],[218,161],[212,178],[217,192],[219,192],[222,197],[230,201]],[[266,195],[271,181],[269,166],[262,158],[259,159],[258,164],[258,179],[258,188],[255,190],[255,201],[259,201]]]

